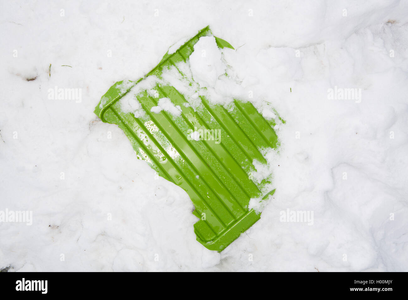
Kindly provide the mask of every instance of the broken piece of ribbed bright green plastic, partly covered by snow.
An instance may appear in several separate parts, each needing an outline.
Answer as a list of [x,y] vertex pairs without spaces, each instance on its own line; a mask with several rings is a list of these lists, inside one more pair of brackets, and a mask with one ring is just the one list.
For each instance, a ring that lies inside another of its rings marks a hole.
[[[95,114],[103,122],[118,124],[138,158],[188,193],[195,206],[193,214],[200,218],[194,224],[197,240],[207,249],[222,251],[259,220],[260,214],[248,209],[250,199],[266,199],[275,191],[262,192],[266,182],[258,183],[251,176],[256,171],[253,160],[266,163],[262,149],[277,147],[274,122],[266,121],[251,103],[239,100],[227,110],[200,97],[202,104],[194,110],[182,93],[163,84],[154,87],[158,95],[146,90],[135,94],[145,112],[141,117],[122,111],[118,101],[148,76],[160,78],[165,68],[188,62],[194,44],[203,36],[212,36],[209,27],[174,53],[166,53],[140,80],[115,83],[102,96]],[[218,47],[233,49],[228,42],[215,40]],[[178,105],[180,115],[152,112],[160,98]],[[189,138],[193,130],[200,139]]]

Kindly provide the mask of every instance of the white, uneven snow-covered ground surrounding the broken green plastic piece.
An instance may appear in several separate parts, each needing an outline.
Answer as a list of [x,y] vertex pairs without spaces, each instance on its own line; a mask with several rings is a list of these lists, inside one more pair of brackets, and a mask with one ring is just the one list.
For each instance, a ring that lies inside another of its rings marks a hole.
[[[33,211],[31,226],[0,223],[0,269],[408,271],[407,1],[0,6],[0,210]],[[207,25],[235,47],[242,89],[286,120],[269,158],[276,193],[222,253],[195,240],[187,194],[93,113],[114,82]],[[49,100],[55,86],[81,102]],[[328,99],[335,86],[361,102]],[[287,209],[313,224],[281,222]]]

